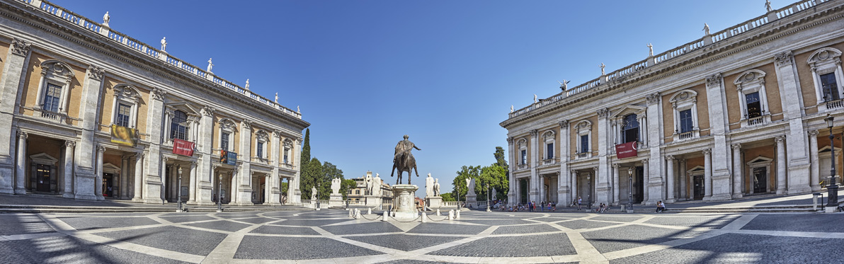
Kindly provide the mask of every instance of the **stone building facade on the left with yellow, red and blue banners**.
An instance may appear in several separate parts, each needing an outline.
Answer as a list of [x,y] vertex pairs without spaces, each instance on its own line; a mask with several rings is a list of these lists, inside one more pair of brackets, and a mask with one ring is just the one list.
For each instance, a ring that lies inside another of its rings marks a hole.
[[104,19],[0,1],[0,193],[279,204],[287,179],[299,197],[300,113]]

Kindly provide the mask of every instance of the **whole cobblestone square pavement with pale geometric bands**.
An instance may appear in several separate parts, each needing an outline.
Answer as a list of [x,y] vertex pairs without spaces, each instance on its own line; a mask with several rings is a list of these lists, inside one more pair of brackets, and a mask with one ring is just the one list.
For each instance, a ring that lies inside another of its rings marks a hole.
[[839,213],[501,213],[382,222],[347,211],[0,214],[0,263],[811,263]]

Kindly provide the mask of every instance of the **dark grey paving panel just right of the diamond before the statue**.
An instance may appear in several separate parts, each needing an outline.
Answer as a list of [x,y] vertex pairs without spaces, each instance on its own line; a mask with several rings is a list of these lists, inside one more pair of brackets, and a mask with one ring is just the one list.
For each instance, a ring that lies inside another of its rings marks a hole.
[[537,234],[488,237],[434,251],[430,254],[440,256],[518,257],[575,255],[577,252],[565,234]]

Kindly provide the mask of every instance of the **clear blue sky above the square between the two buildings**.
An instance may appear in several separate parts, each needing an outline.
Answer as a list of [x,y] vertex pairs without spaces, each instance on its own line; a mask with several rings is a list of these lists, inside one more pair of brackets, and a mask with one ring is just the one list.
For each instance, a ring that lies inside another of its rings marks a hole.
[[[390,178],[404,134],[419,178],[451,191],[463,165],[506,148],[516,109],[766,13],[765,1],[106,1],[64,8],[291,109],[311,122],[311,156],[346,178]],[[772,1],[782,8],[790,1]],[[422,187],[422,186],[420,186]],[[424,196],[423,191],[419,192]]]

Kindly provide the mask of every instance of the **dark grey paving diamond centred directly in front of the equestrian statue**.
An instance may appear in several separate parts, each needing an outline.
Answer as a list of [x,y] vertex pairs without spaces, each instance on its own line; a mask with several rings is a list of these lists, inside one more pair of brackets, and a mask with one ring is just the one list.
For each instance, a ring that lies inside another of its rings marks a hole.
[[385,234],[385,235],[364,235],[348,236],[349,240],[360,241],[372,245],[381,245],[399,251],[415,251],[432,245],[441,245],[463,237],[455,236],[431,236],[431,235],[408,235],[408,234]]

